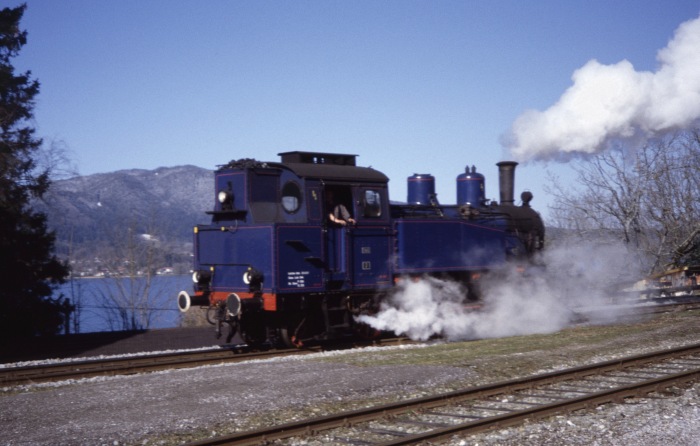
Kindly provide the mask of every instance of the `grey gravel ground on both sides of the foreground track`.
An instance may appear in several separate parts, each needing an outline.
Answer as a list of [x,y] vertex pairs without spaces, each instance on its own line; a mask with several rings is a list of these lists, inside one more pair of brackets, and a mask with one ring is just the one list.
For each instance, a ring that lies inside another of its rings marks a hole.
[[[4,388],[0,444],[179,444],[694,344],[697,316]],[[698,392],[672,389],[450,444],[700,444]]]

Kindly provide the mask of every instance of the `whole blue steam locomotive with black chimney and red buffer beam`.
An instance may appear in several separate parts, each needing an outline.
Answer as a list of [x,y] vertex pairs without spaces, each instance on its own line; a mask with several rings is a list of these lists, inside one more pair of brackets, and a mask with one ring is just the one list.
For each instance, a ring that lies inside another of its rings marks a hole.
[[401,278],[456,280],[474,299],[482,274],[543,247],[532,194],[514,204],[515,162],[498,163],[500,203],[472,166],[457,177],[456,205],[438,203],[429,174],[408,177],[398,204],[387,176],[357,155],[279,155],[220,166],[211,223],[194,228],[194,293],[181,291],[178,307],[202,307],[229,342],[237,332],[253,346],[367,334],[356,317],[376,312]]

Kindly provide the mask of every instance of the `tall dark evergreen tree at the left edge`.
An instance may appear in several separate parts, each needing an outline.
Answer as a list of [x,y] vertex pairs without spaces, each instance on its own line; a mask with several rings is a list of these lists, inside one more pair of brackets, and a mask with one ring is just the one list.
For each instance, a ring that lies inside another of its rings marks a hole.
[[11,63],[27,42],[19,28],[25,9],[0,11],[0,342],[54,334],[66,314],[66,302],[51,295],[69,270],[53,253],[46,215],[31,207],[50,184],[36,166],[42,140],[31,126],[39,82]]

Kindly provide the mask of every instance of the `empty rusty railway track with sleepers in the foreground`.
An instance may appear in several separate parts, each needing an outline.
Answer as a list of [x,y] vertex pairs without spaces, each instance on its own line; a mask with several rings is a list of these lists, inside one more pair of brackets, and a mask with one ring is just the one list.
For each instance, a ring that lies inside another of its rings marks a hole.
[[189,446],[445,441],[646,396],[700,378],[700,344],[209,438]]

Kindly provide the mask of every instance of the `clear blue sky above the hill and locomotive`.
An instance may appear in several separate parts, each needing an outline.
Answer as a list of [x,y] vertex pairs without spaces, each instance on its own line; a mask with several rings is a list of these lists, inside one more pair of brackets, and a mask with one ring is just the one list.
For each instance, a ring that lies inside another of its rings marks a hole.
[[[20,2],[7,2],[8,6]],[[27,0],[28,44],[14,63],[41,82],[38,134],[79,173],[290,150],[359,155],[406,199],[436,177],[455,201],[466,165],[487,176],[512,158],[502,136],[545,110],[591,59],[655,71],[697,0],[93,1]],[[519,167],[517,195],[544,211],[545,171]]]

